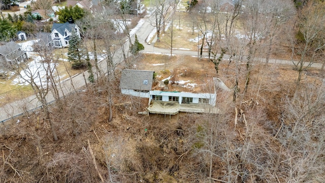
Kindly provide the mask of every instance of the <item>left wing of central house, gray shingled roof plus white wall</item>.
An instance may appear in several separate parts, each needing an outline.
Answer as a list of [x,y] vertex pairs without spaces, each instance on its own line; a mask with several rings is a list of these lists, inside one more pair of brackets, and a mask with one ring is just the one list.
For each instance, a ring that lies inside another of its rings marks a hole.
[[154,71],[124,69],[120,80],[121,93],[136,97],[149,98]]

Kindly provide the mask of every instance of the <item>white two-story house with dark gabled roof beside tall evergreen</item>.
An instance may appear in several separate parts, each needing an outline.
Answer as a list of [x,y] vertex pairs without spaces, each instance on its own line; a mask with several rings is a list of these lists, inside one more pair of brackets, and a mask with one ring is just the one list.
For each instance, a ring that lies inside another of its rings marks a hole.
[[53,23],[51,38],[54,47],[62,48],[69,46],[70,36],[73,31],[80,37],[79,27],[75,23]]

